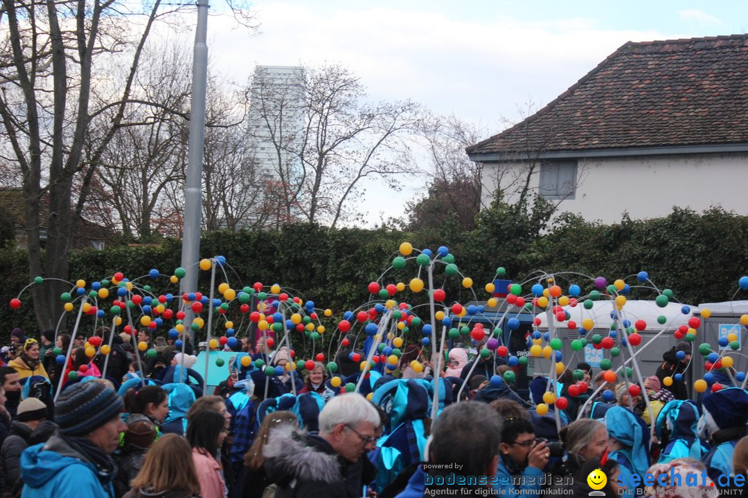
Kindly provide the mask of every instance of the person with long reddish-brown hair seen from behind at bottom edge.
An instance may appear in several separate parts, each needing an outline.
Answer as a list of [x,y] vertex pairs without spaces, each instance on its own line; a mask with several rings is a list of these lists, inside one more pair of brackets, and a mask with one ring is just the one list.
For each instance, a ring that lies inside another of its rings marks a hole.
[[132,489],[123,498],[197,498],[197,479],[192,449],[185,438],[167,434],[153,443],[143,461]]

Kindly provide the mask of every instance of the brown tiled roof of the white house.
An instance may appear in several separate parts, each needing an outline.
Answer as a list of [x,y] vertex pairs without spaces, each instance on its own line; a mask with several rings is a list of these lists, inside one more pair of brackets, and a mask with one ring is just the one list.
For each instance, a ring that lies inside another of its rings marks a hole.
[[633,43],[470,155],[748,143],[748,34]]

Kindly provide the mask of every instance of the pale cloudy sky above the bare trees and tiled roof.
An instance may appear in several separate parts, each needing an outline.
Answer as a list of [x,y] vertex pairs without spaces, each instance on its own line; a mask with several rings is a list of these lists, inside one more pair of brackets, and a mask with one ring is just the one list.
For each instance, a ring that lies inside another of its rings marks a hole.
[[[527,102],[556,98],[629,40],[748,31],[745,0],[257,0],[254,7],[253,37],[212,7],[209,53],[228,78],[245,81],[255,64],[343,63],[373,100],[412,99],[490,134],[501,118],[518,121]],[[402,214],[405,194],[367,190],[370,223]]]

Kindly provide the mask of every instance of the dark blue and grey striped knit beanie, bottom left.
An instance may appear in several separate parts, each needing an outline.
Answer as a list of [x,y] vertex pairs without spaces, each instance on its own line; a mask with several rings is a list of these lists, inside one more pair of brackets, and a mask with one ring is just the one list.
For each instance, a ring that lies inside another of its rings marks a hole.
[[103,382],[80,382],[60,394],[55,422],[62,434],[82,436],[117,417],[123,407],[122,398]]

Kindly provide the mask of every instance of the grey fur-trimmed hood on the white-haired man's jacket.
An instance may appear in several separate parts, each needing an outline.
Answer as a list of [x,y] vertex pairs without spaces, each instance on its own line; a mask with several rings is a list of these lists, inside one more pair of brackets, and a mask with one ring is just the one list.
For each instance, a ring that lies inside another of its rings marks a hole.
[[343,482],[340,460],[327,441],[290,426],[273,429],[263,448],[265,471],[271,482],[287,486],[293,480]]

